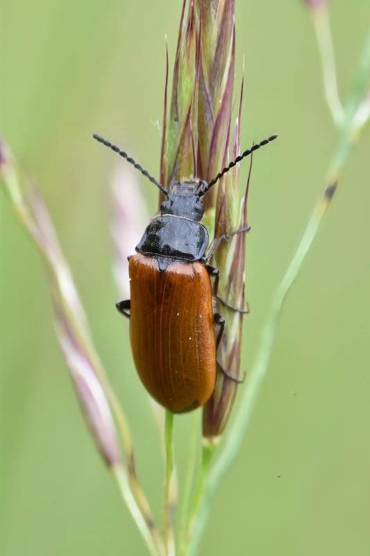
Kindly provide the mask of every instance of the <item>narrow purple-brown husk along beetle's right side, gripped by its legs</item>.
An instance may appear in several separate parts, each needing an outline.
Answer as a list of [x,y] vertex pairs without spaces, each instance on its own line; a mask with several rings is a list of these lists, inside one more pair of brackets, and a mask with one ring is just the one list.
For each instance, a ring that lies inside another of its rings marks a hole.
[[[240,124],[242,116],[243,83],[240,95],[239,115],[235,123],[233,139],[230,146],[230,156],[224,162],[235,160],[240,152]],[[252,159],[251,159],[252,160]],[[248,225],[247,199],[251,170],[246,191],[239,208],[239,164],[224,175],[219,185],[216,206],[215,236],[219,237],[227,231],[240,229]],[[244,314],[230,309],[229,306],[246,310],[245,307],[245,277],[244,260],[246,250],[246,234],[239,234],[221,244],[211,264],[220,270],[219,282],[219,313],[224,316],[226,323],[221,343],[217,350],[217,361],[228,375],[239,379],[240,355],[242,348],[242,329]],[[228,306],[227,306],[228,305]],[[226,377],[217,370],[215,391],[210,400],[203,407],[203,436],[215,442],[226,427],[230,416],[237,389],[237,382]]]

